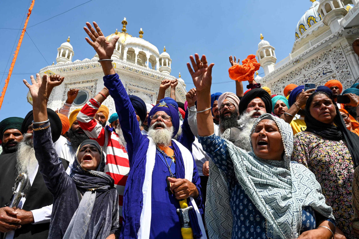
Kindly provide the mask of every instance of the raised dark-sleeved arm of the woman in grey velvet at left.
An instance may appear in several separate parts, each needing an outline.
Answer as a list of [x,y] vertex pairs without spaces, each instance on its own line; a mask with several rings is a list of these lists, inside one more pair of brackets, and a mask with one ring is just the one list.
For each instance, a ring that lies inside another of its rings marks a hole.
[[[52,80],[61,81],[61,78],[53,77]],[[34,77],[31,76],[32,85],[26,80],[23,81],[29,88],[33,99],[33,137],[36,159],[48,190],[56,198],[63,188],[70,186],[71,178],[65,172],[64,166],[59,157],[57,157],[56,150],[53,147],[50,123],[36,123],[48,121],[46,95],[47,84],[50,78],[44,75],[42,79],[38,78],[36,82]]]

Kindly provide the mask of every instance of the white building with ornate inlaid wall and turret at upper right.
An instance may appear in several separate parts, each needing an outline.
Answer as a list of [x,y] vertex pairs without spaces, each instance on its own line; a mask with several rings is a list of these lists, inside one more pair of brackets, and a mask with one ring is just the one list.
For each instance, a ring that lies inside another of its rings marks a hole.
[[312,6],[295,28],[288,57],[276,63],[275,48],[261,34],[256,55],[265,76],[255,79],[272,94],[283,95],[290,83],[324,85],[331,79],[346,89],[359,76],[358,56],[351,46],[359,37],[359,0],[310,1]]

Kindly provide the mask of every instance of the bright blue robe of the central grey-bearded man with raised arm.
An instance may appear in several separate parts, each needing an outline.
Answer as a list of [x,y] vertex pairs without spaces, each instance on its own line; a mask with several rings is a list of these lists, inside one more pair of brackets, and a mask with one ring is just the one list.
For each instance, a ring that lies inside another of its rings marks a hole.
[[[140,226],[139,218],[143,207],[142,186],[149,139],[141,134],[134,108],[118,75],[104,76],[103,81],[104,86],[107,87],[111,97],[115,101],[116,112],[123,136],[127,143],[127,152],[130,162],[129,177],[127,178],[123,195],[123,226],[121,234],[123,238],[137,238]],[[189,133],[190,130],[188,132],[187,129],[189,129],[189,125],[185,120],[182,126],[182,133],[185,137],[182,137],[178,141],[188,148],[188,145],[192,144],[188,139],[193,135],[189,135],[191,133]],[[188,133],[188,135],[186,135],[186,133]],[[176,159],[182,157],[176,154],[176,148],[174,148],[174,152]],[[193,157],[192,160],[194,161]],[[192,183],[196,185],[199,192],[199,197],[197,197],[195,201],[202,213],[200,177],[197,172],[196,163],[194,162],[193,165]],[[138,177],[138,175],[142,177]],[[179,215],[176,212],[176,210],[180,208],[180,205],[178,200],[168,193],[167,176],[169,176],[168,168],[159,154],[156,154],[152,173],[150,238],[182,239],[181,223]]]

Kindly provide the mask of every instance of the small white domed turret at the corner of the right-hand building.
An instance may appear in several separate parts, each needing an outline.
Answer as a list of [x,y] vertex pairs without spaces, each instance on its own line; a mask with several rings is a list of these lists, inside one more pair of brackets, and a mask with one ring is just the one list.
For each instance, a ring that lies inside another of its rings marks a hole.
[[263,40],[264,37],[261,33],[261,41],[258,44],[258,50],[257,50],[257,58],[259,59],[259,63],[261,64],[261,67],[263,67],[264,74],[268,75],[271,71],[274,71],[274,65],[277,61],[277,58],[275,57],[274,50],[275,48],[272,47],[269,42],[266,40]]

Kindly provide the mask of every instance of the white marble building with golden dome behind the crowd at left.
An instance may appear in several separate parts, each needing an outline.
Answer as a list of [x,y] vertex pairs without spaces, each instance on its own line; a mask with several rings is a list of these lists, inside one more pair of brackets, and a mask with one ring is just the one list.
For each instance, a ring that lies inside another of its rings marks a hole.
[[[142,28],[139,37],[133,37],[126,33],[126,18],[122,21],[122,32],[109,35],[107,40],[111,40],[115,35],[118,39],[113,59],[113,67],[120,76],[127,93],[139,96],[145,103],[155,104],[157,100],[159,86],[162,80],[174,80],[171,76],[172,60],[166,49],[160,54],[157,47],[143,39]],[[86,43],[87,44],[87,43]],[[98,94],[103,89],[103,71],[95,55],[92,59],[73,61],[74,49],[70,44],[70,37],[67,42],[62,43],[57,48],[56,64],[46,66],[39,71],[39,74],[53,75],[59,74],[65,77],[65,81],[53,89],[48,107],[51,109],[60,108],[66,101],[67,91],[71,88],[80,89],[78,96],[74,100],[71,111],[81,108],[90,98]],[[176,87],[176,100],[185,102],[186,85],[181,76],[178,76]],[[166,91],[169,96],[169,89]],[[30,94],[27,96],[28,102],[32,103]],[[110,115],[115,112],[114,102],[109,96],[104,102],[110,111]]]

